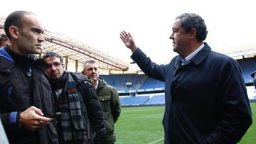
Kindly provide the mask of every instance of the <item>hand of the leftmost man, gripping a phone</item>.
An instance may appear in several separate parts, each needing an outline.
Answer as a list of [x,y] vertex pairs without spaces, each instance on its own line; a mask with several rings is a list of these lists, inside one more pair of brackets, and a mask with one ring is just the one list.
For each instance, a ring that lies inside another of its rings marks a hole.
[[40,109],[35,106],[31,106],[26,111],[21,112],[19,117],[19,123],[22,128],[26,128],[30,131],[35,131],[37,128],[41,128],[52,121],[52,118],[43,116]]

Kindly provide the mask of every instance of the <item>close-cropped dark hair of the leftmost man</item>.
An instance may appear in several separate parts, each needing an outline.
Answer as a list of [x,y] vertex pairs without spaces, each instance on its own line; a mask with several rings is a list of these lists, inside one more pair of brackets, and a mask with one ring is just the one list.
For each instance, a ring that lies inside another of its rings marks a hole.
[[9,38],[9,40],[11,40],[11,35],[9,33],[10,26],[16,26],[18,28],[22,28],[22,24],[23,24],[22,18],[26,14],[35,15],[35,13],[31,13],[29,11],[14,11],[13,13],[9,14],[9,16],[7,16],[6,21],[4,22],[4,31],[7,37]]

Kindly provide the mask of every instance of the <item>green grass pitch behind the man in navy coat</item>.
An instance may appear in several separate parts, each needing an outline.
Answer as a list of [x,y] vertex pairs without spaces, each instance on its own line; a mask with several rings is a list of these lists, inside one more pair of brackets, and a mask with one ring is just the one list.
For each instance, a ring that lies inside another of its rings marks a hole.
[[[251,103],[253,121],[256,121],[256,103]],[[115,124],[116,144],[163,144],[164,129],[161,125],[164,106],[122,108]],[[239,144],[256,143],[256,124],[252,123]]]

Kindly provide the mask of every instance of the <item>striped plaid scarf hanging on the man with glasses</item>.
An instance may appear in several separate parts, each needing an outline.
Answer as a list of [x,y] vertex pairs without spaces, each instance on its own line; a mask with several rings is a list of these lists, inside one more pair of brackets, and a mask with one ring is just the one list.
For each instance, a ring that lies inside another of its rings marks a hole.
[[75,80],[69,72],[68,82],[65,84],[64,91],[59,97],[59,107],[61,111],[61,127],[63,140],[80,140],[83,138],[82,131],[85,127],[82,122],[82,111],[78,96],[78,89]]

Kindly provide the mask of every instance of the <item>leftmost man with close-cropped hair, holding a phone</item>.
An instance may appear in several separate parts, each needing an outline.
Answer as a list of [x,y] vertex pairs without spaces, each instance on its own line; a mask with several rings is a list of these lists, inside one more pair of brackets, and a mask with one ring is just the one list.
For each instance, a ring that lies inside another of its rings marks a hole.
[[[48,65],[41,52],[44,28],[36,14],[11,13],[4,23],[11,45],[0,48],[0,117],[9,143],[58,143],[53,126]],[[46,116],[46,117],[45,117]]]

